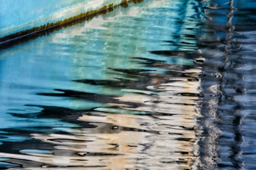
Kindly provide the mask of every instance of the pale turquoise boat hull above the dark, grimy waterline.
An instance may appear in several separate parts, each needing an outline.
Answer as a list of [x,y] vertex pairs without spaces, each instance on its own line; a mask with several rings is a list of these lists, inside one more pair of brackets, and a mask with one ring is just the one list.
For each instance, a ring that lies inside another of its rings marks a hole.
[[2,0],[0,1],[0,38],[98,10],[121,0]]

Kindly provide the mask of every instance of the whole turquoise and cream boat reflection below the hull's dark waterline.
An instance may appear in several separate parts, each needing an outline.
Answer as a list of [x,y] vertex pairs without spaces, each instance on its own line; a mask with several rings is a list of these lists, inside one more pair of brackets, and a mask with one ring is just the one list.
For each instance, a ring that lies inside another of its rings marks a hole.
[[193,167],[202,98],[201,59],[193,51],[201,18],[190,17],[200,5],[130,4],[2,51],[9,74],[2,74],[1,110],[9,112],[5,120],[17,119],[2,128],[9,138],[27,137],[18,145],[2,140],[2,166]]

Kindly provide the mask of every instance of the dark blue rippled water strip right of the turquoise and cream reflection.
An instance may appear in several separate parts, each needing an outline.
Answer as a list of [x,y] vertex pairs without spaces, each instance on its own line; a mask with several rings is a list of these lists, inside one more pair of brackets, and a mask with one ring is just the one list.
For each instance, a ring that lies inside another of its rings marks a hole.
[[209,10],[201,41],[206,55],[201,160],[204,168],[255,169],[255,2],[223,7]]

